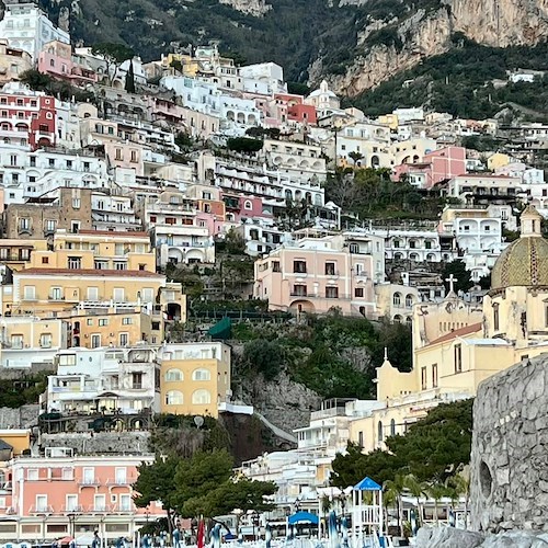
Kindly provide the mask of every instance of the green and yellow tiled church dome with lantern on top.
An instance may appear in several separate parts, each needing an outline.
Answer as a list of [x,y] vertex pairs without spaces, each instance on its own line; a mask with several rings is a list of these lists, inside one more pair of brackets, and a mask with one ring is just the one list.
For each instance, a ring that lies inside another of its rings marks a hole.
[[541,236],[541,219],[533,206],[523,212],[521,237],[494,263],[491,289],[548,286],[548,241]]

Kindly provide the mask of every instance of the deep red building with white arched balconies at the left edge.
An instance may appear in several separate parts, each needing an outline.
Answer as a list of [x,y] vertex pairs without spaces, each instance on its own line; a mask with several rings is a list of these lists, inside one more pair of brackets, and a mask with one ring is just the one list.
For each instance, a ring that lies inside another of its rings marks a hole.
[[31,93],[0,93],[0,141],[31,150],[54,147],[55,99]]

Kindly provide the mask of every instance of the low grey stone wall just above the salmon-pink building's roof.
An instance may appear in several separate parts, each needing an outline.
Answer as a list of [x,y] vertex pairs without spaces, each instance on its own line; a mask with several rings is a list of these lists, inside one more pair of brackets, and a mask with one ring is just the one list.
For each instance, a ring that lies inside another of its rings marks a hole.
[[42,434],[43,447],[71,447],[80,455],[125,453],[141,455],[151,453],[149,432],[82,432]]

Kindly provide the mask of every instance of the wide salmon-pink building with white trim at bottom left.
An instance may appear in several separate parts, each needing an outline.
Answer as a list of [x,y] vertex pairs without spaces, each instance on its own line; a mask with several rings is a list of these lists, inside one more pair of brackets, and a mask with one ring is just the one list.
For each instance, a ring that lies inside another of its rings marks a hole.
[[0,495],[0,541],[52,543],[92,538],[94,532],[105,546],[121,537],[135,540],[148,520],[164,515],[159,504],[137,509],[133,502],[138,466],[152,460],[153,455],[73,456],[72,449],[54,447],[45,456],[15,458],[8,464],[9,493]]

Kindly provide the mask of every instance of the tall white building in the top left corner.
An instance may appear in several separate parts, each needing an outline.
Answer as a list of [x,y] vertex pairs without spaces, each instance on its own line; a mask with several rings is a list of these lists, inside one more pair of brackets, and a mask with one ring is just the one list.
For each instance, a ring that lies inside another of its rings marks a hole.
[[4,5],[0,36],[7,38],[11,47],[27,52],[34,61],[48,42],[70,44],[69,33],[56,27],[34,2],[4,0]]

